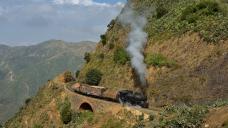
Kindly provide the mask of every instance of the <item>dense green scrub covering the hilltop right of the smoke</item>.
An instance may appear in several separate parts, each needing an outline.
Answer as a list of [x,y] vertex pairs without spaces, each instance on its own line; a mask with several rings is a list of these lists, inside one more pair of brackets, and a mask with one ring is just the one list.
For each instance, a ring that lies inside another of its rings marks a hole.
[[150,38],[167,39],[188,31],[198,32],[205,41],[214,43],[228,37],[226,1],[136,0],[135,6],[139,13],[145,11],[143,8],[151,10],[146,27]]

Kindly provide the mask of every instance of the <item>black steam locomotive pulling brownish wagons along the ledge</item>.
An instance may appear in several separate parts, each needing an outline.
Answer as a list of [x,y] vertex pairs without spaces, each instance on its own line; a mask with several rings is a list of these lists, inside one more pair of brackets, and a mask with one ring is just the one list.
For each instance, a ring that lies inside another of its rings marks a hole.
[[121,90],[116,92],[114,96],[107,96],[105,94],[107,88],[105,87],[75,83],[71,86],[71,88],[73,89],[73,91],[80,93],[82,95],[118,102],[124,105],[138,106],[142,108],[148,108],[149,106],[147,102],[147,97],[139,92]]

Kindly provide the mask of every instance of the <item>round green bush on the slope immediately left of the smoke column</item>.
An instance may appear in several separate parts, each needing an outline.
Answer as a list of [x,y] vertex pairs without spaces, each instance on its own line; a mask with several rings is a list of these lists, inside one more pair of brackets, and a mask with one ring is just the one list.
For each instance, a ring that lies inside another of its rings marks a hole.
[[126,64],[130,61],[128,53],[123,48],[119,48],[114,52],[114,62],[117,64]]

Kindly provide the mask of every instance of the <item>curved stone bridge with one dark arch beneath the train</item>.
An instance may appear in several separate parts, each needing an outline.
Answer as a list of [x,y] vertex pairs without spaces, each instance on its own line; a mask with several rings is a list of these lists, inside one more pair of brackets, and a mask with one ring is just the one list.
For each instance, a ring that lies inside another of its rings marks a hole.
[[149,118],[149,115],[152,113],[153,113],[153,115],[157,115],[158,111],[159,111],[159,109],[156,109],[156,108],[154,108],[153,110],[149,110],[149,109],[143,109],[143,108],[125,107],[116,102],[84,96],[84,95],[74,92],[67,85],[65,86],[65,91],[69,97],[72,109],[74,111],[90,110],[94,113],[109,112],[112,114],[117,114],[121,110],[126,109],[127,111],[137,113],[136,115],[138,115],[138,116],[144,114],[145,119]]

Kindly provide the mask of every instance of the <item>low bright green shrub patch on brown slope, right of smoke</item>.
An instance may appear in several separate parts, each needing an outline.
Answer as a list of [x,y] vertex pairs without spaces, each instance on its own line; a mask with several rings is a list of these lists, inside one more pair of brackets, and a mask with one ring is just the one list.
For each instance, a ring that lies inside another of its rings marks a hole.
[[170,61],[162,54],[150,54],[145,58],[145,62],[147,65],[152,65],[156,67],[172,67],[176,65],[175,61]]

